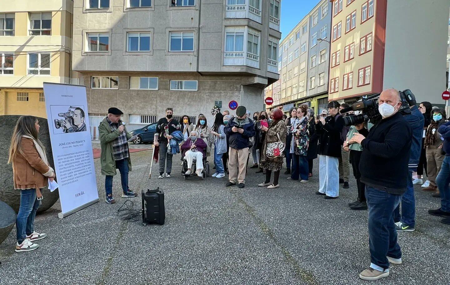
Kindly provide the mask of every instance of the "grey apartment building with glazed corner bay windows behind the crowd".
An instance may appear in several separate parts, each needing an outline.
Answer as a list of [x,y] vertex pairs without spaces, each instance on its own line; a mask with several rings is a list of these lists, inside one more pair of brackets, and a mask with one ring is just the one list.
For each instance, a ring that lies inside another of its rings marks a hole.
[[[74,0],[72,68],[91,125],[109,107],[135,129],[174,108],[212,125],[215,101],[261,111],[277,69],[280,0]],[[234,113],[234,111],[231,111]]]

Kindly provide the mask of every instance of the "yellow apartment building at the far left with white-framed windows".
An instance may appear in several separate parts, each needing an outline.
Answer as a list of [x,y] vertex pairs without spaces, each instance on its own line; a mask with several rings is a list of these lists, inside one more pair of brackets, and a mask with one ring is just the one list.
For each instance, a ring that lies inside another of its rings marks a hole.
[[70,83],[71,45],[71,0],[0,5],[0,115],[46,117],[42,83]]

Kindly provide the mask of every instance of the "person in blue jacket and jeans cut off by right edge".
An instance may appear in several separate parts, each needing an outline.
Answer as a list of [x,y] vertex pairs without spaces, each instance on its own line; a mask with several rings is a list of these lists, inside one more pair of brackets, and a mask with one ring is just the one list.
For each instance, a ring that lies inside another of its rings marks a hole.
[[439,171],[436,178],[437,188],[441,192],[441,208],[428,210],[428,213],[433,216],[444,217],[441,223],[450,225],[450,122],[442,124],[437,131],[444,139],[442,150],[446,153],[441,171]]

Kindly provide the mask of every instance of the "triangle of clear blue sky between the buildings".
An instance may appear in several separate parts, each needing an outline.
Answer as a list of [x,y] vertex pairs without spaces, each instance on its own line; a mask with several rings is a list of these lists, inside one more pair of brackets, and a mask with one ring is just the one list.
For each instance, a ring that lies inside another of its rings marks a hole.
[[281,39],[309,13],[321,0],[282,0],[281,1]]

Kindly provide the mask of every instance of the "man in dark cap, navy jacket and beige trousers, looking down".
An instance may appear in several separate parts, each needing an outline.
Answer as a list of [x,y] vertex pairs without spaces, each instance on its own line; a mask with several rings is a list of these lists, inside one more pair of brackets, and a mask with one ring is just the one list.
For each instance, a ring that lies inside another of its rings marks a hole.
[[[247,109],[239,106],[236,117],[228,122],[224,131],[229,136],[228,183],[225,186],[236,185],[245,187],[245,171],[247,168],[249,139],[255,136],[255,127],[252,120],[247,117]],[[238,173],[239,170],[239,173]]]

